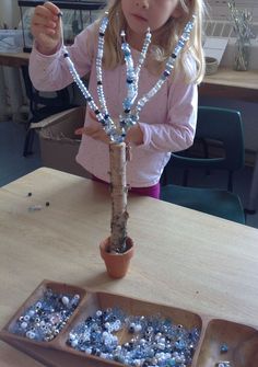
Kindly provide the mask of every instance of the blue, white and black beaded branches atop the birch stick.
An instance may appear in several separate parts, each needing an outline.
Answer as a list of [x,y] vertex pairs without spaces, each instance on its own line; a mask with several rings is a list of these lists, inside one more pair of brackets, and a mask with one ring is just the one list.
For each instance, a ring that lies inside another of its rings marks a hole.
[[[62,14],[60,13],[59,16]],[[139,121],[139,114],[143,106],[153,98],[156,92],[162,88],[165,80],[171,76],[174,64],[179,55],[180,50],[185,46],[186,42],[190,37],[191,30],[194,27],[195,22],[195,15],[192,16],[192,20],[189,21],[183,32],[181,37],[179,38],[175,50],[172,53],[171,57],[168,58],[166,62],[165,70],[163,71],[162,76],[157,80],[156,84],[148,92],[145,93],[136,104],[133,111],[131,111],[133,103],[136,102],[136,99],[138,96],[138,84],[139,84],[139,73],[141,70],[141,66],[143,65],[148,47],[151,43],[151,33],[150,30],[148,30],[145,39],[143,43],[143,47],[140,54],[140,58],[138,61],[138,66],[134,68],[133,60],[131,57],[131,51],[128,43],[126,42],[126,33],[125,31],[121,32],[122,43],[121,43],[121,49],[124,53],[125,61],[126,61],[126,69],[127,69],[127,96],[124,100],[122,107],[124,113],[119,116],[119,125],[117,126],[114,121],[112,119],[108,108],[106,105],[106,99],[103,90],[103,80],[102,80],[102,60],[103,60],[103,54],[104,54],[104,36],[106,32],[106,27],[108,25],[108,18],[104,16],[99,24],[99,32],[98,32],[98,47],[97,47],[97,56],[96,56],[96,77],[97,77],[97,96],[99,100],[99,108],[97,107],[97,104],[94,102],[91,93],[80,79],[79,73],[75,70],[75,67],[69,56],[68,49],[63,44],[63,36],[62,36],[62,49],[63,49],[63,57],[68,64],[69,71],[79,87],[80,91],[82,92],[83,96],[85,98],[90,108],[95,113],[96,119],[102,124],[105,133],[109,137],[112,141],[115,142],[121,142],[125,140],[128,129],[137,124]],[[60,23],[61,24],[61,23]],[[61,24],[62,27],[62,24]],[[61,32],[62,34],[62,32]]]

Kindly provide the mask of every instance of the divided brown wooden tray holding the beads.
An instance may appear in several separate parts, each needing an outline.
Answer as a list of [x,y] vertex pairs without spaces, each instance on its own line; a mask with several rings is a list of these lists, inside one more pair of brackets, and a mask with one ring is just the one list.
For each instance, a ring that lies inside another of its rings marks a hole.
[[[80,296],[80,302],[60,333],[52,340],[36,341],[13,332],[16,320],[43,297],[47,289],[57,294],[73,297]],[[77,351],[67,344],[69,333],[87,317],[97,310],[118,308],[127,316],[161,317],[169,319],[174,324],[186,329],[198,328],[200,340],[196,348],[191,367],[215,367],[220,362],[228,362],[226,367],[258,366],[258,330],[248,325],[202,317],[187,310],[160,303],[146,302],[108,293],[93,293],[72,285],[44,280],[19,308],[15,314],[0,332],[0,339],[13,347],[28,354],[34,359],[51,367],[107,367],[125,366],[102,357]],[[132,337],[128,332],[116,333],[120,343],[129,342]],[[226,345],[227,352],[222,353],[221,346]],[[187,366],[189,367],[189,365]]]

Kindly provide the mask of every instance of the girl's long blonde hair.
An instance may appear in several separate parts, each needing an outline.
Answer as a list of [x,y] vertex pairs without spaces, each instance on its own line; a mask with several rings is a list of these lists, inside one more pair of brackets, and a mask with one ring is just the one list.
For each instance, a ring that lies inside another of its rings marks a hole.
[[[148,53],[146,68],[155,74],[161,73],[173,53],[186,23],[196,15],[195,26],[190,39],[178,56],[175,69],[184,71],[186,82],[200,83],[204,74],[204,56],[202,50],[202,19],[203,0],[178,0],[183,15],[171,18],[152,37],[150,51]],[[121,30],[127,30],[127,22],[122,14],[121,1],[112,0],[106,9],[109,24],[105,34],[104,67],[114,69],[125,62],[121,51]],[[187,56],[187,57],[186,57]],[[189,56],[195,60],[196,68],[187,62]],[[195,72],[192,70],[196,70]]]

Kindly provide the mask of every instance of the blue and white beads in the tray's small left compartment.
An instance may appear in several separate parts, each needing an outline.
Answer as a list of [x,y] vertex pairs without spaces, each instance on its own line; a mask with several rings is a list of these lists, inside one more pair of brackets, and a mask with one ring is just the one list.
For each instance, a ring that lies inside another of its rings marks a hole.
[[50,342],[66,325],[79,301],[79,295],[57,294],[48,288],[15,321],[11,331],[31,340]]

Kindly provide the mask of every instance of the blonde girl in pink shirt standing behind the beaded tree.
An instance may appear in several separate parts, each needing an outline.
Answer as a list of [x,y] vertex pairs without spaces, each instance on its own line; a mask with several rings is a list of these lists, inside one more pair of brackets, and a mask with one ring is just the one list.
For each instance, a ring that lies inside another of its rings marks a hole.
[[[127,182],[132,192],[160,196],[160,177],[172,151],[191,146],[195,137],[198,94],[204,62],[201,41],[203,0],[114,0],[108,5],[109,24],[105,33],[103,88],[110,116],[118,119],[127,93],[126,65],[121,51],[121,30],[137,64],[150,27],[151,45],[139,78],[141,98],[156,83],[173,53],[185,24],[196,14],[186,47],[176,59],[165,84],[141,111],[140,121],[127,134],[132,160],[127,164]],[[32,19],[34,47],[30,60],[33,84],[40,91],[54,91],[72,82],[63,58],[60,10],[51,2],[38,5]],[[68,47],[82,77],[90,74],[89,90],[97,102],[96,54],[99,20],[79,34]],[[108,137],[87,108],[77,161],[94,177],[109,182]]]

